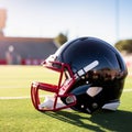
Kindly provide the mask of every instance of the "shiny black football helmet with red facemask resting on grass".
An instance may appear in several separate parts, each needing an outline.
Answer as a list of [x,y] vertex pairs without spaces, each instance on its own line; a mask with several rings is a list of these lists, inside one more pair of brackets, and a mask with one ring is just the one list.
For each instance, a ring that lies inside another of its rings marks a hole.
[[[70,108],[92,113],[119,107],[128,69],[120,53],[109,43],[96,37],[76,38],[62,45],[43,66],[50,69],[44,69],[46,76],[54,74],[47,77],[52,82],[32,82],[31,99],[35,109]],[[55,73],[57,79],[53,79]],[[44,95],[47,95],[45,99]]]

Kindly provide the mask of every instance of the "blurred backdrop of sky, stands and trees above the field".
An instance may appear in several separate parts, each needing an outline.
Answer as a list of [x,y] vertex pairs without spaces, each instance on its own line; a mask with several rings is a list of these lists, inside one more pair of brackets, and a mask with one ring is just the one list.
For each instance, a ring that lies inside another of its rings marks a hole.
[[132,1],[0,0],[0,65],[40,65],[79,36],[107,41],[132,66]]

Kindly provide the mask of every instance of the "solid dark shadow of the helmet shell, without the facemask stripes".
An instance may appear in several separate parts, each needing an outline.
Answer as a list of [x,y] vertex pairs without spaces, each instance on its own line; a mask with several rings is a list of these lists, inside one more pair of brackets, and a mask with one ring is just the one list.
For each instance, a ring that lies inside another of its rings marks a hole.
[[89,119],[103,129],[114,132],[131,132],[132,131],[132,112],[117,110],[116,112],[102,111]]

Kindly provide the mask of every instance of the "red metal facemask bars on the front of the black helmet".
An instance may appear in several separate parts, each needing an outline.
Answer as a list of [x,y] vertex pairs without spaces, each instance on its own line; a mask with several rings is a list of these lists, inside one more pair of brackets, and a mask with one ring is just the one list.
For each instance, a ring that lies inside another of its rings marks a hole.
[[[33,102],[33,106],[35,109],[40,111],[57,111],[61,109],[66,109],[70,108],[76,105],[76,98],[72,94],[67,94],[67,90],[74,85],[75,82],[75,76],[73,72],[70,70],[69,65],[63,64],[59,62],[51,62],[51,61],[45,61],[43,63],[43,66],[46,68],[50,68],[52,70],[58,72],[59,74],[59,80],[58,85],[52,85],[52,84],[45,84],[45,82],[32,82],[31,85],[31,99]],[[63,76],[64,74],[66,75],[66,80],[63,81]],[[63,82],[63,84],[62,84]],[[41,105],[41,96],[40,96],[40,90],[45,90],[54,94],[54,102],[52,108],[40,108]],[[57,106],[58,100],[61,98],[66,98],[69,97],[72,99],[72,102],[67,106],[63,105],[61,107]]]

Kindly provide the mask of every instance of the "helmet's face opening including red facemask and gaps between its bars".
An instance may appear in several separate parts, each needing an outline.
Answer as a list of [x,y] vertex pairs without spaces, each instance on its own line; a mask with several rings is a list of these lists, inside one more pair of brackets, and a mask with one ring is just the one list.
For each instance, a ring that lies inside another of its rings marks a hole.
[[[75,82],[70,67],[58,62],[51,62],[50,59],[46,59],[43,66],[48,81],[34,81],[31,85],[31,99],[35,109],[40,111],[56,111],[74,106],[76,103],[75,96],[66,94]],[[61,101],[63,97],[68,97],[69,105],[66,106]]]

